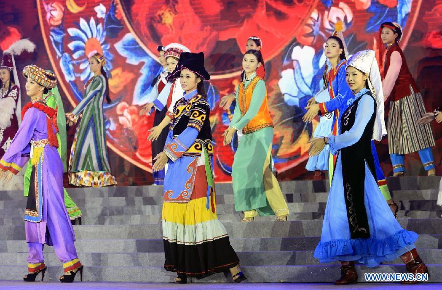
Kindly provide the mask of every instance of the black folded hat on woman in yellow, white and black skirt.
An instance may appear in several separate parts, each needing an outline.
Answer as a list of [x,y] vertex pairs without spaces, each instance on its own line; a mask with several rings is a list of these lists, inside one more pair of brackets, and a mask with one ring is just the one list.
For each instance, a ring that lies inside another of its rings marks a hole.
[[205,81],[210,79],[209,73],[204,68],[204,53],[181,53],[180,60],[176,65],[175,70],[167,76],[167,81],[173,81],[180,77],[180,72],[187,68],[191,72],[197,74]]

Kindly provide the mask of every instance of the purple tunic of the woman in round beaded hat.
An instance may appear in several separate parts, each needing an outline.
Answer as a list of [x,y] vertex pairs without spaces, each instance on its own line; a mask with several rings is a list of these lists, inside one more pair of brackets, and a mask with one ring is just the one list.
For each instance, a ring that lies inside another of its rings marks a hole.
[[[36,108],[28,110],[11,145],[0,160],[0,169],[17,174],[26,165],[29,160],[30,142],[48,139],[46,119],[47,116],[42,111]],[[29,195],[35,196],[38,210],[35,216],[26,211],[26,241],[51,246],[60,242],[73,243],[75,235],[64,206],[63,164],[57,148],[45,145],[42,157],[33,167],[38,175],[35,175],[35,180],[38,180],[39,184],[35,182],[34,192],[29,192]],[[51,203],[50,211],[48,202]],[[48,217],[57,226],[47,235]]]

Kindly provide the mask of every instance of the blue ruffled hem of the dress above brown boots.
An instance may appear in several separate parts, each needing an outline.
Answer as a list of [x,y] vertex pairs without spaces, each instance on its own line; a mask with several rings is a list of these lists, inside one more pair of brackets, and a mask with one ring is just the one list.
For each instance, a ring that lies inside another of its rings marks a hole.
[[382,261],[392,261],[411,251],[415,248],[417,238],[417,233],[402,229],[383,240],[375,236],[366,239],[335,239],[319,242],[313,257],[322,263],[357,261],[367,267],[376,267]]

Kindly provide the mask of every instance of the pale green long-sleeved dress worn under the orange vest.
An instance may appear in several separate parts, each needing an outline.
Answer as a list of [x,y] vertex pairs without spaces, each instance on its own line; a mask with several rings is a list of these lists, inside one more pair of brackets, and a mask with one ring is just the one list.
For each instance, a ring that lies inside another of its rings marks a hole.
[[[256,76],[255,76],[256,77]],[[245,89],[253,81],[245,81]],[[241,86],[241,85],[240,85]],[[236,107],[230,126],[241,130],[256,116],[267,95],[266,85],[259,80],[251,96],[249,108],[242,116],[236,91]],[[271,172],[273,127],[243,134],[232,166],[232,185],[237,211],[253,211],[253,216],[287,215],[289,210],[275,176]],[[248,217],[249,213],[246,213]]]

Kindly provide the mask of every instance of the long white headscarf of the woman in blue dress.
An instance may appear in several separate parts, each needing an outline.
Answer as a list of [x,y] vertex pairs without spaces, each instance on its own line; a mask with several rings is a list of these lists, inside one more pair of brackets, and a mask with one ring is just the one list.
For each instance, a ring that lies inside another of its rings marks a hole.
[[387,129],[384,120],[384,91],[376,54],[372,50],[359,51],[347,61],[348,66],[353,66],[368,75],[368,87],[377,104],[372,140],[381,141],[382,137],[387,135]]

